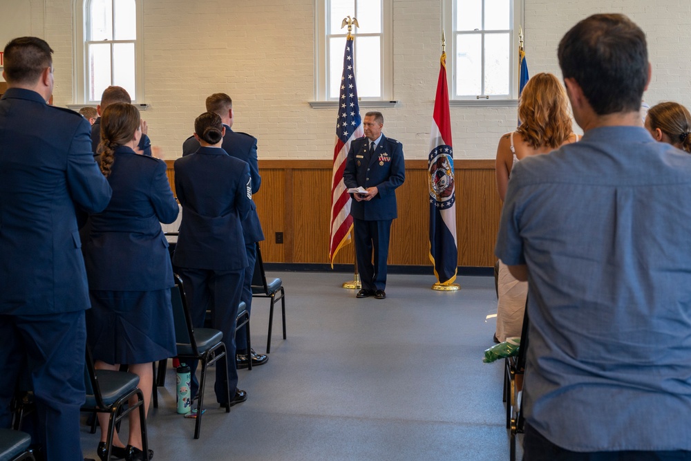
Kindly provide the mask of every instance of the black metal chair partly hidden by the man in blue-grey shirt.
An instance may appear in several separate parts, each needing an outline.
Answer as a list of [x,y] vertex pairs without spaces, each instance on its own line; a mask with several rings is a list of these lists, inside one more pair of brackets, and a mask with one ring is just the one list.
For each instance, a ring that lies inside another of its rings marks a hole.
[[525,373],[525,362],[528,353],[528,301],[523,314],[523,326],[520,334],[518,355],[507,357],[504,367],[504,402],[507,402],[507,429],[509,429],[509,459],[515,461],[516,437],[523,433],[523,399],[518,402],[518,386],[516,379]]

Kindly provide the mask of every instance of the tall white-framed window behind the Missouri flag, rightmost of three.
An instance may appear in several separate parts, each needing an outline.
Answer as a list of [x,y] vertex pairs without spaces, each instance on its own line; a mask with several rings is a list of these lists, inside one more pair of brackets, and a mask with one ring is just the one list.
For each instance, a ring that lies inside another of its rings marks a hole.
[[516,99],[522,1],[446,0],[446,5],[452,11],[445,23],[453,31],[453,99]]

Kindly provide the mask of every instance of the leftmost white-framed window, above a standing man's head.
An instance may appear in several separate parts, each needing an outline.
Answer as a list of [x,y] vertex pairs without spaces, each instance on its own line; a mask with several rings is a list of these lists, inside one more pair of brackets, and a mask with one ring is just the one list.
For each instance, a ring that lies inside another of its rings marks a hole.
[[142,100],[141,3],[83,0],[82,8],[75,11],[83,24],[81,36],[75,39],[75,43],[82,44],[77,46],[75,57],[77,102],[99,102],[110,85],[125,88],[133,102]]

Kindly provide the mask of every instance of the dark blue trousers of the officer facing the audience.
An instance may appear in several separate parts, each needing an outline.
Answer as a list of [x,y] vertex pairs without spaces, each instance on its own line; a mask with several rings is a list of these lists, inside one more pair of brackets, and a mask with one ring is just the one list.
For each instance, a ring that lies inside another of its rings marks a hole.
[[[355,229],[355,255],[363,290],[386,289],[386,260],[391,220],[366,221],[353,219]],[[372,265],[372,250],[375,263]]]

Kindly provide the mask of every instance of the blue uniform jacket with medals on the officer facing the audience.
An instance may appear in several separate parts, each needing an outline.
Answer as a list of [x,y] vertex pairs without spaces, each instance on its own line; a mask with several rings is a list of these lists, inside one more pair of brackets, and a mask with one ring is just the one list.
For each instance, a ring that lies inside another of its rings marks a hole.
[[377,151],[367,162],[368,144],[367,138],[358,138],[350,143],[343,182],[348,189],[376,186],[378,193],[368,202],[353,199],[350,214],[353,218],[366,221],[394,219],[397,217],[395,189],[406,179],[403,144],[381,135]]

